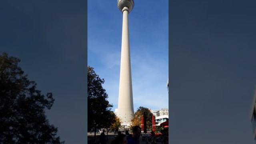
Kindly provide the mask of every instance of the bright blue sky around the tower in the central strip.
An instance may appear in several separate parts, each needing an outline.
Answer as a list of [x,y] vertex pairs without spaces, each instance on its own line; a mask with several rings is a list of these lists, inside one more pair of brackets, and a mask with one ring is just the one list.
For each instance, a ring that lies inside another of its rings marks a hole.
[[[168,108],[168,0],[137,0],[129,14],[134,110]],[[116,0],[88,0],[88,65],[118,108],[122,12]]]

